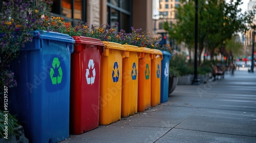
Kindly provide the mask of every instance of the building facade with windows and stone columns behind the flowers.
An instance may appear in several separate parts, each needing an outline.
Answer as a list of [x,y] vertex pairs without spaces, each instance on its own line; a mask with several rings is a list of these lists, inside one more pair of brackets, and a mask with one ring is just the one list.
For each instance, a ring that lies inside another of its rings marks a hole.
[[[5,2],[8,0],[0,0],[0,8]],[[51,12],[73,26],[81,18],[82,23],[96,27],[118,22],[118,31],[131,32],[131,27],[153,31],[152,0],[53,0]]]

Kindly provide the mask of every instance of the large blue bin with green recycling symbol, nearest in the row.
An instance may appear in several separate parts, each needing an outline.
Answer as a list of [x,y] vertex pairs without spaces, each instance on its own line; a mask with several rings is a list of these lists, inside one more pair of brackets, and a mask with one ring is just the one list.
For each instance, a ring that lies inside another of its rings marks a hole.
[[70,58],[75,40],[66,34],[34,31],[20,48],[13,71],[9,110],[17,115],[29,142],[58,142],[69,137]]

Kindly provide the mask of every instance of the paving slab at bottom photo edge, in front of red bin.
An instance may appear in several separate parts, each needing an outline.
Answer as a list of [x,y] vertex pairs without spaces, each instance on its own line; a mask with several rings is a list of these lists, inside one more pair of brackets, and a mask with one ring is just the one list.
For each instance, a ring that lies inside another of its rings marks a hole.
[[92,131],[70,135],[61,142],[154,142],[170,128],[100,126]]

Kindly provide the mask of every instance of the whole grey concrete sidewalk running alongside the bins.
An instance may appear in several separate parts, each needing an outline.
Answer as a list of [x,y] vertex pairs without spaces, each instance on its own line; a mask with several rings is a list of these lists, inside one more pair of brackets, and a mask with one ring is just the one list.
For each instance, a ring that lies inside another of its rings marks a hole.
[[168,102],[66,142],[256,142],[256,72],[178,85]]

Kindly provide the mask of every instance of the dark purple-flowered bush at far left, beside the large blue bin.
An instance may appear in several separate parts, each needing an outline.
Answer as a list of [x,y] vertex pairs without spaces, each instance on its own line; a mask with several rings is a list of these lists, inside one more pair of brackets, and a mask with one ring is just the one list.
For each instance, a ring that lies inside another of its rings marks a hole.
[[[40,29],[50,13],[51,0],[10,0],[0,13],[0,86],[16,86],[11,64],[26,42],[32,41],[33,31]],[[3,89],[1,89],[3,90]]]

